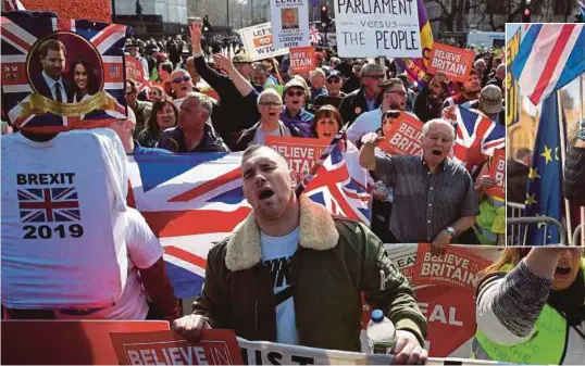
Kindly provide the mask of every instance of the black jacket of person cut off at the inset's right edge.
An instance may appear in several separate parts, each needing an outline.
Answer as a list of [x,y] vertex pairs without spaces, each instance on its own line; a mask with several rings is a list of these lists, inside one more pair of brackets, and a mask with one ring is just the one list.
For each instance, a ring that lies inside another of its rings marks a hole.
[[569,201],[585,206],[585,148],[569,149],[562,188]]

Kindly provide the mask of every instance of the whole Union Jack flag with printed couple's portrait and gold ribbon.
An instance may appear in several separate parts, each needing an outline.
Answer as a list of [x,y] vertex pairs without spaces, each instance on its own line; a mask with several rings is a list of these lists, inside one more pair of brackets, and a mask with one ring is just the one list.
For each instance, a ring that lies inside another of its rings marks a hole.
[[21,129],[58,132],[126,117],[126,26],[2,17],[2,105]]

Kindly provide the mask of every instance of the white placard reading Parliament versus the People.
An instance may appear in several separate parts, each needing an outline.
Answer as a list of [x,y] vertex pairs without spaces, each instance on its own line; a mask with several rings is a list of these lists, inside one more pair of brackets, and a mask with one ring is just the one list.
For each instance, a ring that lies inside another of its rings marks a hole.
[[422,56],[416,1],[337,0],[334,9],[339,56]]

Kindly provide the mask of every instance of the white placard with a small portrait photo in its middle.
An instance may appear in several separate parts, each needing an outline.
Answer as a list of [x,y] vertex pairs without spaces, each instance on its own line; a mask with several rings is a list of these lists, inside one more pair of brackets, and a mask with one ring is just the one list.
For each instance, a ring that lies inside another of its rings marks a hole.
[[308,0],[271,0],[270,9],[275,48],[311,46]]

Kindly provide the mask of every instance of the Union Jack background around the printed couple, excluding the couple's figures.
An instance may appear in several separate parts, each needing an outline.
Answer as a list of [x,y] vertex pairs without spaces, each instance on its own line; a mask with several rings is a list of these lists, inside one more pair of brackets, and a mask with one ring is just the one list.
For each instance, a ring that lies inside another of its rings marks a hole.
[[[20,128],[42,127],[47,131],[60,131],[80,125],[85,128],[98,127],[111,123],[112,118],[126,117],[123,72],[126,26],[58,17],[2,16],[1,27],[2,102],[14,125]],[[34,114],[24,106],[34,92],[32,80],[39,76],[29,75],[29,70],[34,71],[33,63],[38,62],[38,51],[33,52],[47,37],[63,41],[67,48],[63,79],[73,79],[72,75],[69,75],[69,65],[74,58],[84,61],[91,59],[87,51],[82,51],[77,46],[85,43],[88,49],[97,51],[94,62],[96,67],[91,72],[101,76],[98,76],[98,83],[102,85],[111,110],[94,111],[84,116],[59,117],[52,113]],[[72,42],[75,37],[78,41]],[[29,58],[29,53],[36,55],[36,59]],[[27,62],[27,59],[30,62]]]

